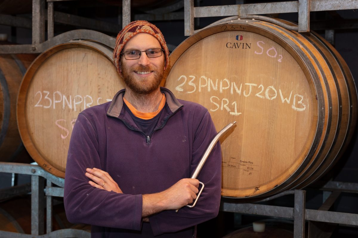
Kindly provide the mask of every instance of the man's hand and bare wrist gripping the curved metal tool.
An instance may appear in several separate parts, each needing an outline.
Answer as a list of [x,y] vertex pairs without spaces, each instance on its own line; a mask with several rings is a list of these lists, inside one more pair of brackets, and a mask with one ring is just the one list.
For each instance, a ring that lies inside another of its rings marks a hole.
[[199,192],[199,180],[183,178],[160,193],[144,194],[142,216],[164,210],[176,210],[194,201]]

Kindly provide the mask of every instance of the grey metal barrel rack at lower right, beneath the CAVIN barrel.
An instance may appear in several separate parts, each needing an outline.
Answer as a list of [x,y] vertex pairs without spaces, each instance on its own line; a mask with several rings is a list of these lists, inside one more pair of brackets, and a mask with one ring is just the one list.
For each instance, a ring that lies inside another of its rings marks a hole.
[[[224,212],[291,219],[294,221],[294,238],[305,237],[306,221],[308,222],[309,238],[318,237],[318,234],[327,232],[329,230],[327,229],[328,226],[335,227],[340,224],[342,226],[358,227],[358,214],[328,211],[341,192],[358,193],[357,183],[330,181],[321,187],[320,190],[323,190],[323,204],[319,209],[306,208],[306,191],[301,189],[287,190],[255,203],[237,203],[235,199],[232,201],[222,201],[220,209]],[[258,204],[290,194],[294,195],[292,207]],[[319,223],[324,224],[318,226]]]

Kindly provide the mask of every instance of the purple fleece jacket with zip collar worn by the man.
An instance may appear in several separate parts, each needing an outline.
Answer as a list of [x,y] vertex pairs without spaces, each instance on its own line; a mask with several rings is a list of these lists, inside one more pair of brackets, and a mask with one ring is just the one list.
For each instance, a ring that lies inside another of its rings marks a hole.
[[[203,106],[177,100],[161,88],[166,104],[148,145],[123,107],[125,90],[112,102],[87,108],[77,118],[68,149],[64,204],[72,223],[92,225],[92,237],[195,237],[194,227],[217,216],[221,149],[217,144],[198,179],[205,184],[197,205],[167,210],[142,222],[142,194],[164,191],[190,178],[216,129]],[[122,193],[92,187],[86,168],[107,171]]]

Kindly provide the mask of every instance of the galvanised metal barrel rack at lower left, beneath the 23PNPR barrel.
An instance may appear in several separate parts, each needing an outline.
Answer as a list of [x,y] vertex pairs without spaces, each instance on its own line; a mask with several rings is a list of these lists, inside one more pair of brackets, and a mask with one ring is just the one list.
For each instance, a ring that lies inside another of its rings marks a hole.
[[[0,231],[0,237],[4,238],[50,238],[50,237],[78,237],[89,238],[89,232],[79,229],[61,229],[53,231],[52,213],[53,197],[63,197],[64,179],[46,172],[37,165],[23,163],[0,162],[1,173],[27,174],[31,176],[31,234]],[[46,181],[46,186],[44,186]],[[17,186],[1,191],[1,194],[23,194],[26,189],[18,190]],[[46,222],[45,217],[46,207]],[[46,233],[45,233],[46,227]]]

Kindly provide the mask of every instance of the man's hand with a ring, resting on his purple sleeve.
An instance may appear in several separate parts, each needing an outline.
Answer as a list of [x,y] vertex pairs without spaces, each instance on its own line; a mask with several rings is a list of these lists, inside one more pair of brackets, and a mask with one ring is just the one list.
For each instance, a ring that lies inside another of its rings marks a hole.
[[93,181],[89,181],[88,183],[93,187],[105,189],[107,191],[113,191],[116,193],[123,193],[118,184],[107,172],[98,168],[86,168],[86,171],[86,177],[92,179]]

